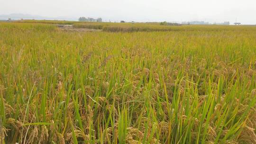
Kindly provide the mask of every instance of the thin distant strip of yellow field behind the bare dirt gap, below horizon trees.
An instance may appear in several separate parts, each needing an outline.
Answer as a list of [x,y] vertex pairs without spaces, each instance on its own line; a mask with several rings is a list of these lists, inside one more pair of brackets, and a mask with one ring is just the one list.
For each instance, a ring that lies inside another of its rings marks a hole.
[[106,32],[152,32],[152,31],[248,31],[255,26],[225,26],[225,25],[161,25],[160,23],[110,23],[81,22],[65,20],[15,20],[15,23],[38,23],[49,25],[72,25],[73,28],[99,29]]

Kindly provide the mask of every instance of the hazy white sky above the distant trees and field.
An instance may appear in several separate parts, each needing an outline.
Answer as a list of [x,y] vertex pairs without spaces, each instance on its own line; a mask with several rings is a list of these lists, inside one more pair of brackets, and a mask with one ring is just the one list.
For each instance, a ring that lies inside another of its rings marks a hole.
[[256,24],[256,0],[0,0],[0,15]]

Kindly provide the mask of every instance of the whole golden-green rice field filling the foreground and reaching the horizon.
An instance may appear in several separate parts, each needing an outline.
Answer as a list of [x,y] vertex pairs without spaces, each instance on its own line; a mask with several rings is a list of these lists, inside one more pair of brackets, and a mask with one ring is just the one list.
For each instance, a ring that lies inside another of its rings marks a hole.
[[90,25],[0,23],[0,144],[256,144],[256,27]]

